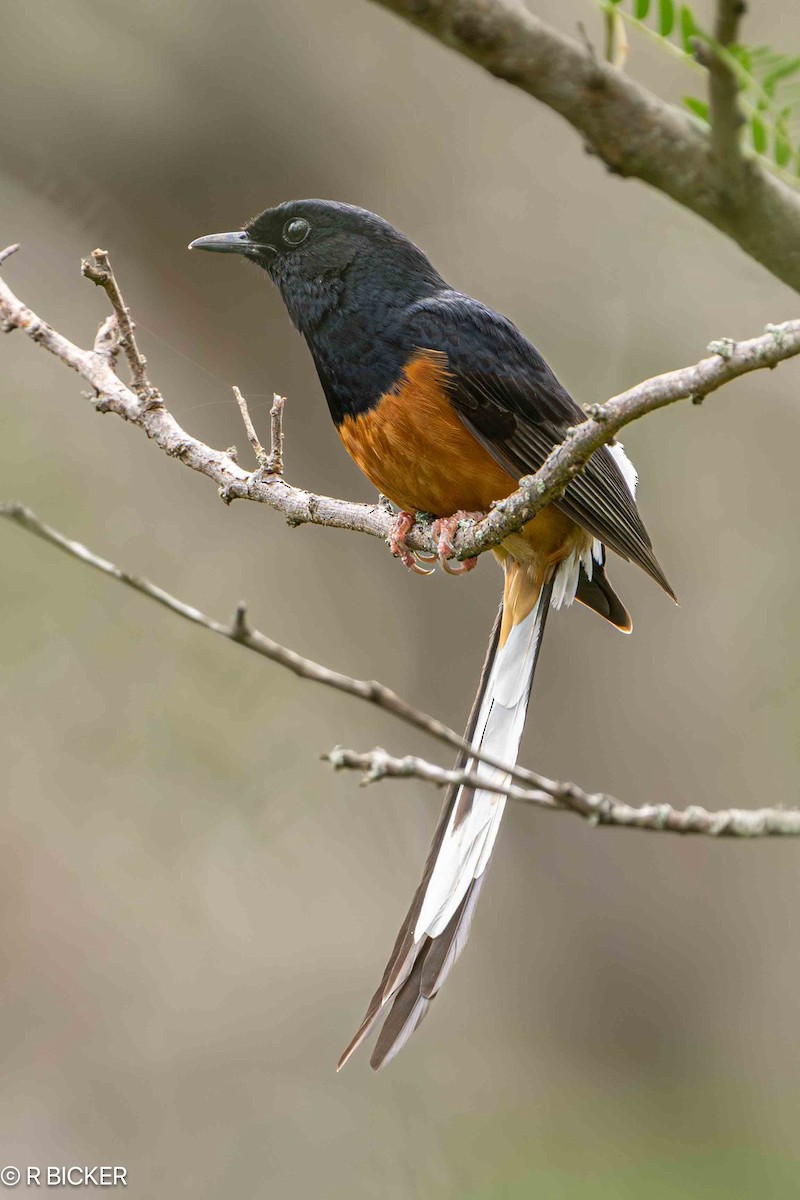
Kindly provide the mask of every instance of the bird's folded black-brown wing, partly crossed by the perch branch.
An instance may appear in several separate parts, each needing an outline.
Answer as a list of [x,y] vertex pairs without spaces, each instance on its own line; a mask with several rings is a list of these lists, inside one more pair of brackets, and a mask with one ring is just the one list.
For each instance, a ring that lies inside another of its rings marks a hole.
[[[420,349],[447,356],[450,398],[468,430],[519,479],[539,470],[567,430],[587,420],[539,350],[505,317],[458,292],[414,306],[405,326]],[[636,503],[606,446],[555,505],[674,593],[652,553]]]

